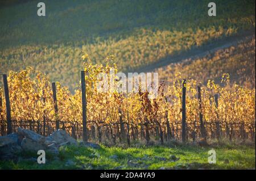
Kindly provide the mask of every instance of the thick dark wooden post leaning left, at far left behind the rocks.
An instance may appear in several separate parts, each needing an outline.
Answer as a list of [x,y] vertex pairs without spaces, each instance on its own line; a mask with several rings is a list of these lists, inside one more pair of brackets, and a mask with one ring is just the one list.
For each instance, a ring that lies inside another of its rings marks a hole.
[[7,82],[7,75],[6,74],[3,74],[3,86],[5,87],[7,134],[11,134],[13,132],[13,126],[11,125],[11,106],[10,106],[9,88],[8,88],[8,82]]

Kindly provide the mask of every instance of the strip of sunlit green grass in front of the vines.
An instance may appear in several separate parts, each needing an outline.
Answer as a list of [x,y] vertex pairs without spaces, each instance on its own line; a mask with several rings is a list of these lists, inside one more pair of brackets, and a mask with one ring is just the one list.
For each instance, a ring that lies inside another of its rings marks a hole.
[[[214,149],[216,164],[208,163],[208,151]],[[112,155],[115,155],[113,157]],[[179,158],[174,161],[170,158]],[[23,157],[36,155],[26,153]],[[65,146],[58,157],[46,154],[46,164],[36,161],[0,161],[0,169],[255,169],[255,145],[225,145],[199,147],[195,145],[142,146],[121,148],[101,146],[101,149]],[[72,162],[67,165],[67,161]],[[130,161],[132,164],[127,164]]]

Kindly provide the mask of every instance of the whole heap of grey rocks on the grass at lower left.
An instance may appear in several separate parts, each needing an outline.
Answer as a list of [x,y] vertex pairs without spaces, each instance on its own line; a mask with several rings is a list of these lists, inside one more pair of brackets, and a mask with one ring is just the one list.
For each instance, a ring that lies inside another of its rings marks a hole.
[[[77,141],[69,136],[69,134],[61,129],[53,132],[50,136],[44,137],[33,131],[18,128],[18,132],[11,133],[7,136],[0,137],[0,158],[2,159],[18,159],[21,151],[37,151],[46,150],[55,157],[59,155],[59,147],[75,144]],[[94,149],[100,149],[101,146],[90,142],[79,143],[80,146],[86,146]],[[79,152],[77,154],[80,154]],[[93,157],[100,157],[95,153]]]

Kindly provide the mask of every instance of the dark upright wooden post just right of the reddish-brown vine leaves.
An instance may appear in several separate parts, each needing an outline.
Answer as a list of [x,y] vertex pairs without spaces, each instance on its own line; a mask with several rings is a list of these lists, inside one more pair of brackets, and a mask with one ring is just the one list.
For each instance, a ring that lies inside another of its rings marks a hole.
[[186,129],[186,79],[183,79],[182,83],[182,142],[186,141],[187,129]]

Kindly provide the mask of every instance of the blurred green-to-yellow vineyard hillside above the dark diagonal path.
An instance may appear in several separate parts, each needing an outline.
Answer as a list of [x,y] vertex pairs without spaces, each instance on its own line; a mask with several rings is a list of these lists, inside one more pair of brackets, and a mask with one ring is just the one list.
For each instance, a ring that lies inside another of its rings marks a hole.
[[255,1],[216,1],[216,17],[204,0],[44,2],[46,17],[36,15],[36,1],[0,9],[0,72],[32,66],[70,90],[82,50],[95,63],[113,54],[118,68],[133,71],[255,28]]

